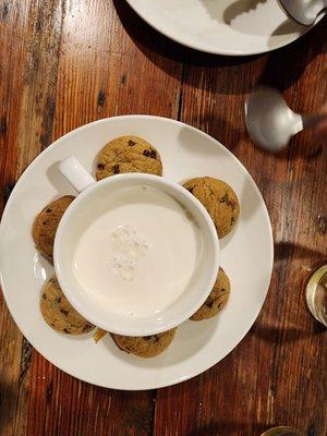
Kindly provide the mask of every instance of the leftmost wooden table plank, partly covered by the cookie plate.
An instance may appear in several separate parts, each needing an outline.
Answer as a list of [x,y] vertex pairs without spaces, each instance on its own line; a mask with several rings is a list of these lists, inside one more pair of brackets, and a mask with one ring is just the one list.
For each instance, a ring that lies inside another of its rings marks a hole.
[[[1,113],[1,184],[4,199],[14,181],[51,138],[63,12],[63,2],[55,0],[41,4],[27,0],[3,2],[1,89],[5,95]],[[1,319],[3,434],[23,435],[32,349],[22,340],[4,302]]]

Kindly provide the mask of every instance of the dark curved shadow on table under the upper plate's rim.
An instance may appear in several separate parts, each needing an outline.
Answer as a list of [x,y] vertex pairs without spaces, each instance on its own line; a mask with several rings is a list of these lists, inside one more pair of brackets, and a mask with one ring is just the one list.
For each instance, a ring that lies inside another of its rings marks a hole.
[[[324,51],[325,47],[324,35],[327,16],[305,36],[282,49],[275,50],[267,55],[250,57],[209,55],[183,47],[182,45],[162,36],[146,24],[125,1],[113,0],[113,3],[122,25],[133,39],[134,44],[153,63],[162,69],[166,73],[178,78],[181,75],[180,69],[172,69],[171,65],[162,62],[162,60],[158,58],[158,55],[175,62],[183,63],[186,68],[183,69],[182,81],[191,83],[194,87],[206,86],[207,81],[198,81],[198,83],[195,83],[194,74],[187,74],[187,65],[208,69],[240,66],[239,70],[233,70],[233,73],[228,75],[229,83],[226,84],[226,86],[225,84],[219,84],[219,87],[223,87],[222,89],[219,89],[219,93],[223,94],[244,94],[251,92],[254,83],[252,81],[242,80],[242,76],[240,76],[242,73],[241,65],[257,61],[258,68],[261,68],[259,64],[263,62],[263,59],[266,59],[266,64],[258,80],[258,84],[270,85],[280,90],[287,89],[301,77],[306,65],[313,58]],[[290,28],[289,26],[292,25],[284,23],[282,27],[276,32],[282,34],[286,32],[286,27]],[[240,74],[238,74],[238,72]]]

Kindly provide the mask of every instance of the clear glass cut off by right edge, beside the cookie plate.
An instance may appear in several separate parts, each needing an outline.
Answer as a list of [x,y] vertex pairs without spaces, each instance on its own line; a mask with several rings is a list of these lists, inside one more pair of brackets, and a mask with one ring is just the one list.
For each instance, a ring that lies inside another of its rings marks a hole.
[[311,276],[306,286],[306,302],[313,316],[327,327],[327,265]]

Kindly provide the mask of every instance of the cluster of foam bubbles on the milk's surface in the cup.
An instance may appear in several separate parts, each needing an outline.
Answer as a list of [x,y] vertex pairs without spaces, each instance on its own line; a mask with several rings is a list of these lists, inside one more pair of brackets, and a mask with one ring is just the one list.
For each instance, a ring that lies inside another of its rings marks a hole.
[[114,255],[110,257],[110,269],[114,277],[132,281],[138,274],[138,263],[144,258],[150,244],[138,238],[132,226],[119,226],[111,234],[110,242]]

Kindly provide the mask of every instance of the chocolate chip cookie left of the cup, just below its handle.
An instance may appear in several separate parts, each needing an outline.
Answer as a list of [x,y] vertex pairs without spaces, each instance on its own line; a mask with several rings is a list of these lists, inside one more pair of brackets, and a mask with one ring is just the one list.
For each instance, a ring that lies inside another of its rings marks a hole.
[[32,235],[36,249],[48,259],[53,257],[53,243],[59,221],[75,197],[65,195],[46,206],[35,218]]

